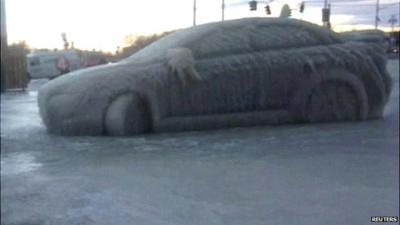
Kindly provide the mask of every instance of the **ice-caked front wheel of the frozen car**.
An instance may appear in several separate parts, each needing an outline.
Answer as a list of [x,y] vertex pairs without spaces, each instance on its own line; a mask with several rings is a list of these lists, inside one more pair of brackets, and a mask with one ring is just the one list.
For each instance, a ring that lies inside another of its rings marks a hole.
[[133,93],[120,95],[105,115],[105,134],[129,136],[150,131],[150,112],[146,103]]

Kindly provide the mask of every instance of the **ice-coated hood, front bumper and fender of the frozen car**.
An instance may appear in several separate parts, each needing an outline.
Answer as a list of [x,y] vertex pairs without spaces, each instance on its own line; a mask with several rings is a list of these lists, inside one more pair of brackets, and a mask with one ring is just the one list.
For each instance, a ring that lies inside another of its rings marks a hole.
[[[51,133],[101,135],[109,103],[118,95],[151,89],[155,64],[115,63],[77,70],[43,85],[39,111]],[[139,85],[140,83],[140,85]]]

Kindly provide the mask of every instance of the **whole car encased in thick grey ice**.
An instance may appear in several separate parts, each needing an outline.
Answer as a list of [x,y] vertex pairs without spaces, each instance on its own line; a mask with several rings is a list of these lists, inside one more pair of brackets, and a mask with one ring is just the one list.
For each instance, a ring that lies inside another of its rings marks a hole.
[[183,29],[47,83],[40,114],[65,135],[380,118],[391,89],[385,49],[356,36],[280,18]]

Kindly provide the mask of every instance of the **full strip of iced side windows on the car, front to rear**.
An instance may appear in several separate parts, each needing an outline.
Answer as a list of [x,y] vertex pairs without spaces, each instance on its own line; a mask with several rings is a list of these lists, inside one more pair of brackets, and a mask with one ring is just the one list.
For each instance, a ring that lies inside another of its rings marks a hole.
[[301,21],[268,21],[221,26],[192,44],[196,59],[257,51],[339,43],[327,29]]

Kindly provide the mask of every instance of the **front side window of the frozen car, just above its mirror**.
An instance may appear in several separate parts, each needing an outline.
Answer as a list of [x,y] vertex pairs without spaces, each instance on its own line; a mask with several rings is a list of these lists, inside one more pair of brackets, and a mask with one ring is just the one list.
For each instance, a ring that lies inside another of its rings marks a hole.
[[251,28],[243,26],[221,26],[208,37],[192,44],[193,55],[196,59],[201,59],[249,52],[249,29]]

